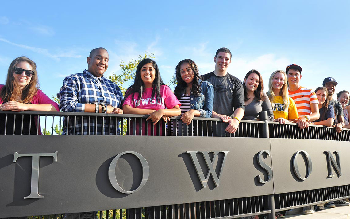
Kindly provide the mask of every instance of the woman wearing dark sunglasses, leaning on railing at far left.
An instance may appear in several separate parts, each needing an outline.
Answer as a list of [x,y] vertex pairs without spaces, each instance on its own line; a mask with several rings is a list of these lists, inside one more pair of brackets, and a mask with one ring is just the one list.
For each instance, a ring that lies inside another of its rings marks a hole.
[[[35,62],[28,59],[26,56],[16,58],[8,68],[5,85],[0,84],[0,110],[11,110],[15,112],[24,110],[59,111],[58,104],[46,96],[40,89],[38,89],[38,87],[39,83]],[[1,115],[1,117],[4,116],[4,114]],[[25,120],[26,119],[23,117],[23,124],[26,124],[25,122],[28,122],[27,124],[29,124],[29,120]],[[11,121],[11,119],[8,117],[7,121]],[[37,119],[31,119],[31,121],[36,122]],[[21,123],[17,125],[18,122],[22,123],[21,116],[20,119],[16,119],[15,134],[21,134]],[[8,125],[10,125],[10,122],[8,122]],[[3,124],[0,126],[0,134],[3,134]],[[26,128],[23,126],[22,134],[29,134],[29,128],[28,130],[24,129]],[[12,134],[13,126],[12,129],[7,127],[6,130],[10,130]],[[32,134],[32,132],[36,134],[36,128],[31,131],[30,134]]]

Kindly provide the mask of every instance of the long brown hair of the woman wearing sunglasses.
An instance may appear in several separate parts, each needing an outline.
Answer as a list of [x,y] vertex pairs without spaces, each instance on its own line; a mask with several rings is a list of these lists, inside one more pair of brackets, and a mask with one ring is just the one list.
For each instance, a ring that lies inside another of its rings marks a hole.
[[[30,64],[34,75],[31,76],[30,82],[21,89],[18,82],[13,76],[13,68],[20,62],[27,62]],[[5,86],[0,90],[0,98],[5,103],[7,101],[18,101],[20,103],[30,103],[33,100],[33,96],[36,95],[39,82],[38,75],[36,73],[36,64],[26,56],[21,56],[13,60],[8,67],[7,78]]]

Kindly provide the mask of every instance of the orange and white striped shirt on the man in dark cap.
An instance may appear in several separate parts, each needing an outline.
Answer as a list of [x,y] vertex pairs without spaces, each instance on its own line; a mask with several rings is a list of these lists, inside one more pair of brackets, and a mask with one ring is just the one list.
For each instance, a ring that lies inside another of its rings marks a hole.
[[298,111],[299,118],[311,114],[311,103],[317,103],[317,96],[311,89],[301,87],[295,91],[289,91],[289,97],[295,102],[296,109]]

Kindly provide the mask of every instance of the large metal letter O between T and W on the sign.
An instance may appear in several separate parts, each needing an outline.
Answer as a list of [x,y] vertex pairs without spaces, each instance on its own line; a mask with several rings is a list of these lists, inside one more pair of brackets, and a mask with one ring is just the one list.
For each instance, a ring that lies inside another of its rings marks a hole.
[[[141,183],[140,183],[139,187],[137,187],[137,189],[132,190],[132,191],[126,191],[126,190],[122,189],[117,182],[117,176],[116,176],[117,161],[122,155],[125,155],[126,153],[131,153],[131,154],[135,155],[136,157],[138,157],[140,162],[141,162],[141,165],[142,165]],[[144,185],[147,182],[148,176],[149,176],[149,166],[148,166],[147,160],[144,158],[144,156],[140,155],[139,153],[137,153],[135,151],[125,151],[123,153],[120,153],[119,155],[114,157],[114,159],[112,160],[110,167],[108,169],[108,178],[109,178],[112,186],[114,187],[114,189],[118,190],[119,192],[126,193],[126,194],[134,193],[136,191],[139,191],[142,187],[144,187]]]

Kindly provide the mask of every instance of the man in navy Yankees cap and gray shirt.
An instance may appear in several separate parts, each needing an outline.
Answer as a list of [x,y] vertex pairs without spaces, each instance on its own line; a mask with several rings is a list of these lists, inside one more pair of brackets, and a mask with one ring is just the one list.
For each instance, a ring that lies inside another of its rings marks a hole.
[[323,85],[323,87],[327,88],[329,104],[331,104],[334,107],[335,131],[341,132],[342,128],[345,126],[343,107],[342,107],[341,103],[339,103],[338,101],[336,101],[332,98],[332,95],[335,92],[335,86],[338,85],[338,83],[335,81],[334,78],[326,77],[326,78],[324,78],[322,85]]

